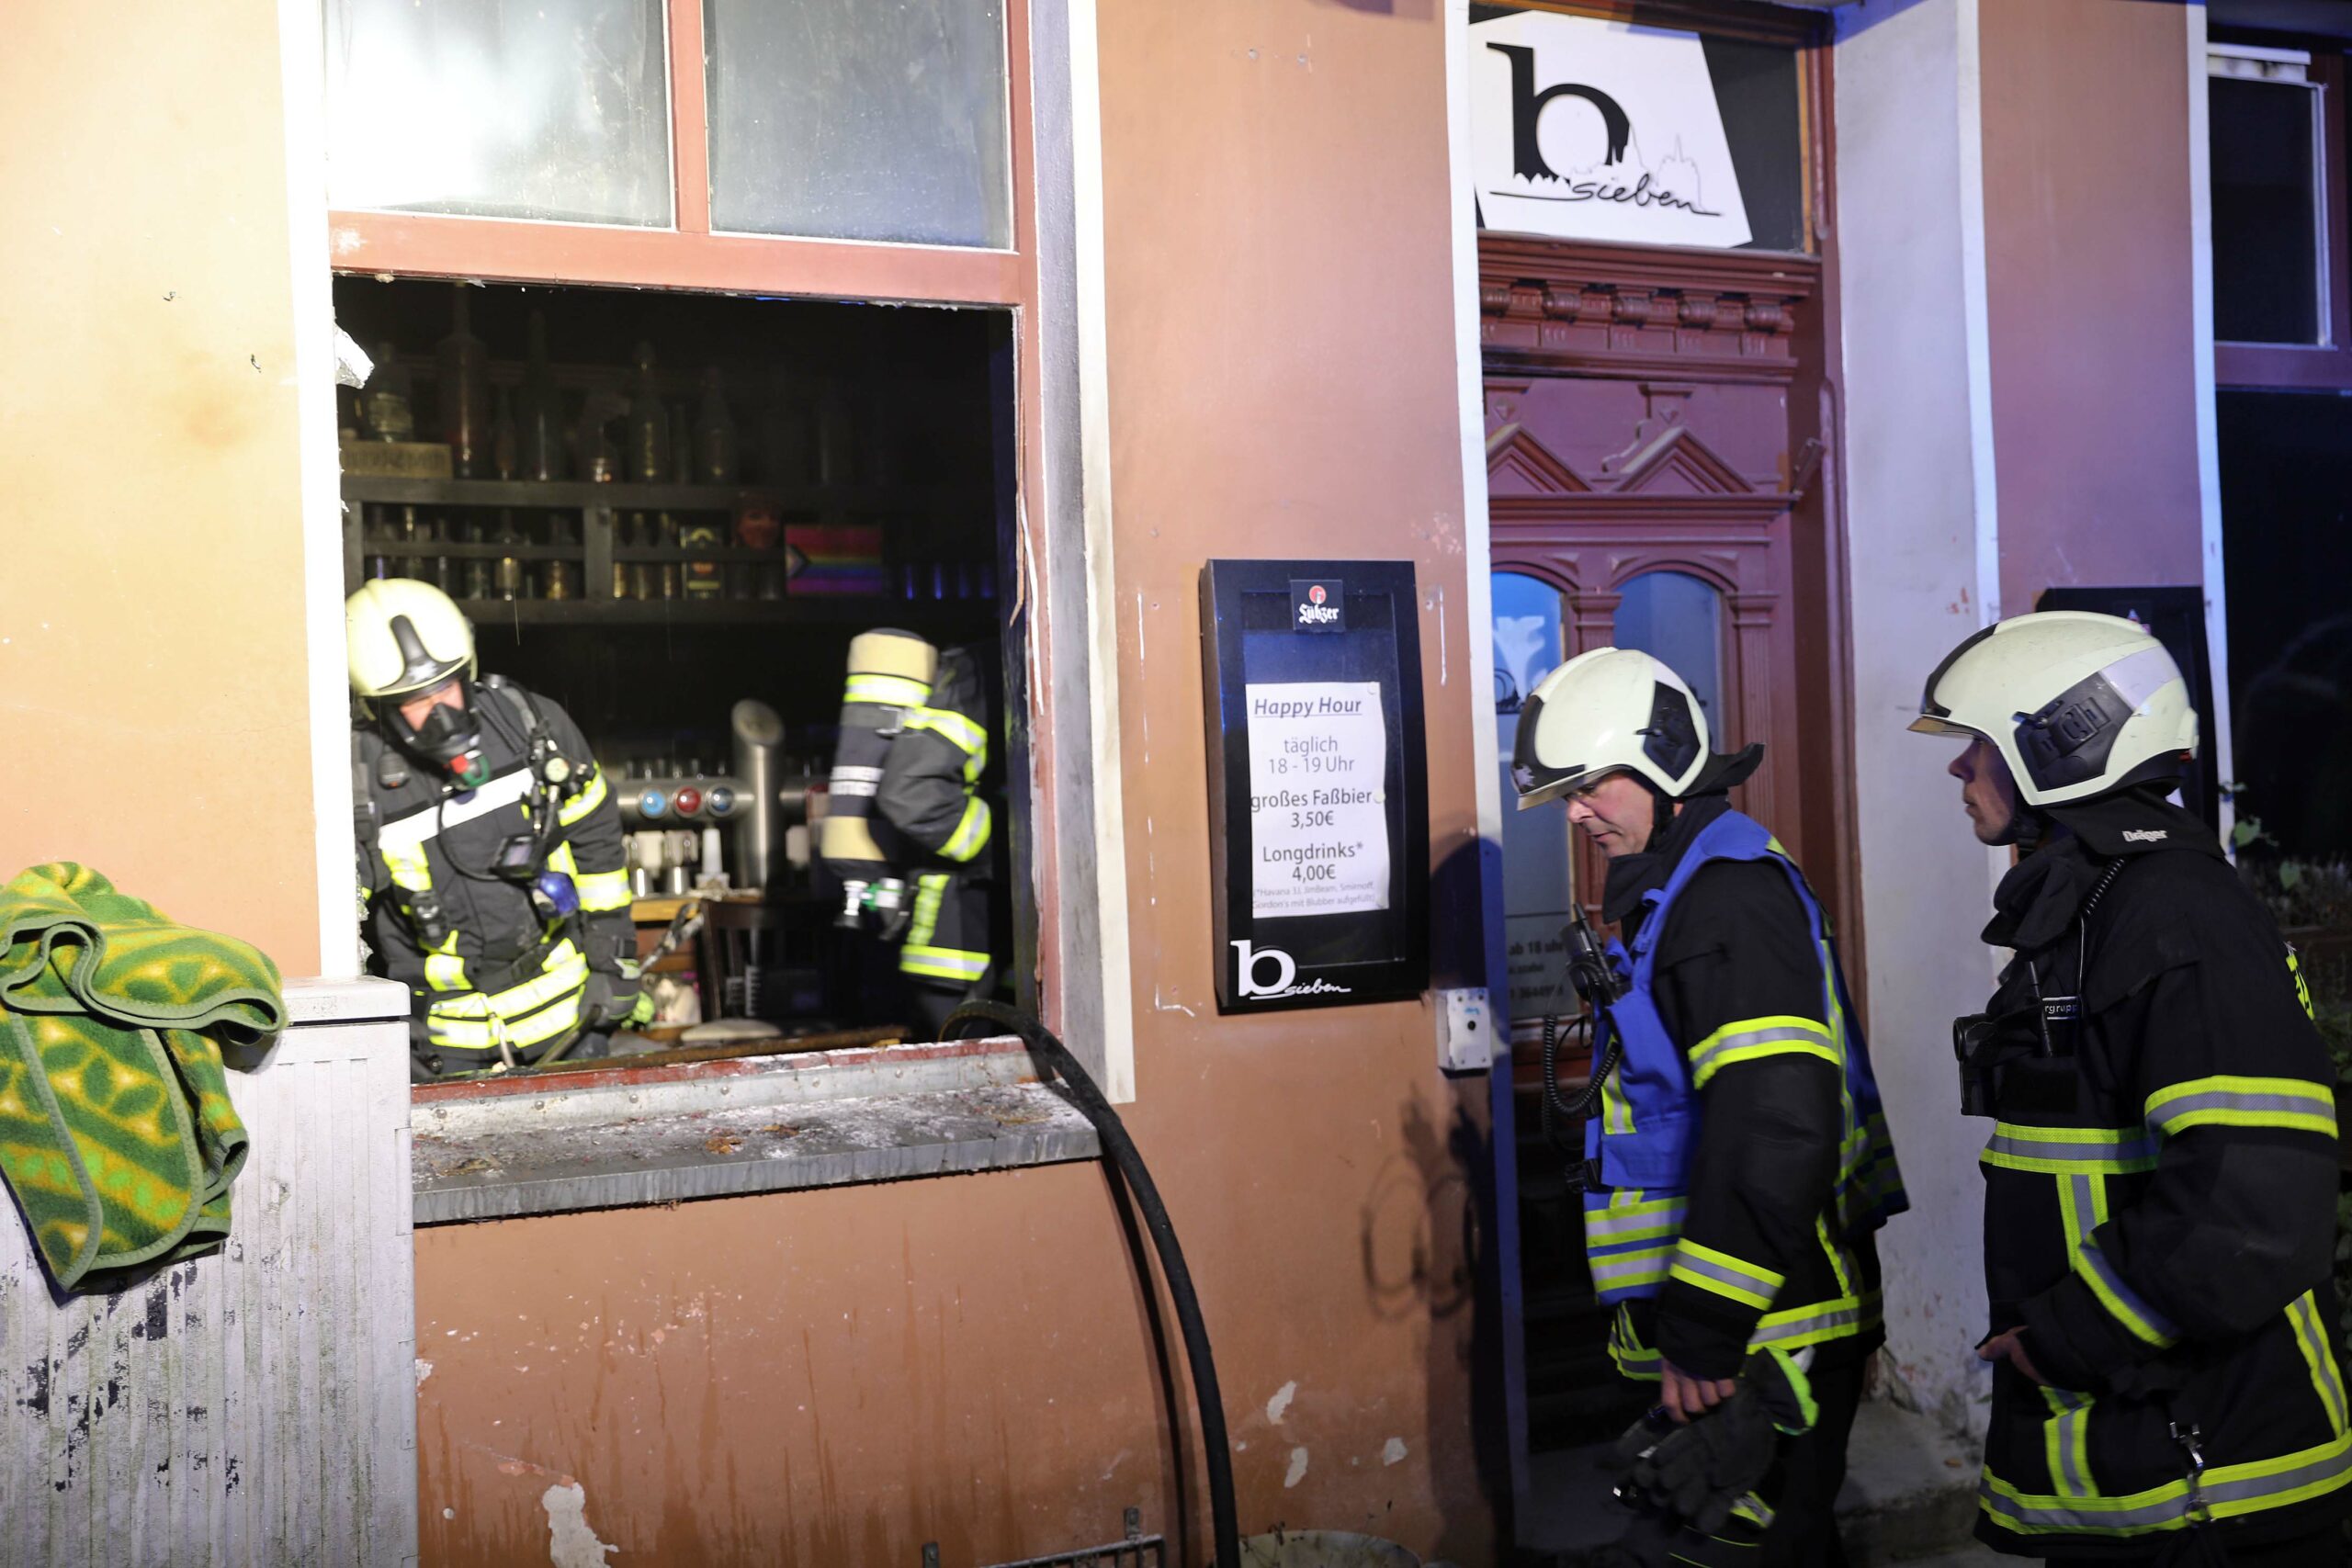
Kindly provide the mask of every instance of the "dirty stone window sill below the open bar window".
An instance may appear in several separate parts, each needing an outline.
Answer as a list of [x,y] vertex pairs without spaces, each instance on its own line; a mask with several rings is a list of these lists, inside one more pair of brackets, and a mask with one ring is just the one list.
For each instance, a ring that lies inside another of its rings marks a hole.
[[1101,1152],[1018,1039],[430,1084],[416,1225],[1004,1171]]

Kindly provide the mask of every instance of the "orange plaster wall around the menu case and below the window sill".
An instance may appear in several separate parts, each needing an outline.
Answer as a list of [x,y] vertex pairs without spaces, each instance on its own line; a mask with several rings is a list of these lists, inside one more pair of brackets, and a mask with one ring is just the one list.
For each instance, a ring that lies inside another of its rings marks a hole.
[[[1101,66],[1127,1119],[1207,1302],[1242,1526],[1475,1563],[1486,1084],[1439,1077],[1421,1004],[1216,1016],[1195,609],[1211,555],[1411,557],[1432,853],[1470,851],[1439,16],[1105,0]],[[997,1563],[1124,1507],[1207,1519],[1094,1166],[442,1227],[416,1260],[426,1563],[539,1561],[572,1483],[616,1568]]]

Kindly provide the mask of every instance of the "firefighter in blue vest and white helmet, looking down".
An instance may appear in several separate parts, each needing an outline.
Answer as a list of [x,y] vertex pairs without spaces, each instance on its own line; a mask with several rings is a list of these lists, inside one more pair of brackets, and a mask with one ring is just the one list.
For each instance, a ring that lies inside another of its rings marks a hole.
[[[1832,1502],[1884,1342],[1875,1232],[1905,1208],[1828,917],[1726,799],[1759,762],[1762,745],[1710,752],[1689,684],[1632,649],[1552,670],[1512,757],[1519,809],[1564,799],[1609,858],[1602,917],[1623,933],[1623,1056],[1576,1173],[1611,1356],[1658,1380],[1668,1453],[1757,1448],[1696,1465],[1759,1474],[1740,1519],[1710,1530],[1717,1507],[1698,1528],[1712,1540],[1642,1561],[1844,1561]],[[1811,1422],[1752,1418],[1743,1389],[1780,1380],[1809,1387]]]

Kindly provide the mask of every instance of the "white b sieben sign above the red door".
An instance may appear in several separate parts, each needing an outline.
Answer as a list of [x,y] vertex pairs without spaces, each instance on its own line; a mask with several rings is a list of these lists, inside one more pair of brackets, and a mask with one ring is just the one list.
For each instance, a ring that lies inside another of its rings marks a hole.
[[1470,176],[1489,228],[1748,244],[1698,33],[1519,12],[1470,40]]

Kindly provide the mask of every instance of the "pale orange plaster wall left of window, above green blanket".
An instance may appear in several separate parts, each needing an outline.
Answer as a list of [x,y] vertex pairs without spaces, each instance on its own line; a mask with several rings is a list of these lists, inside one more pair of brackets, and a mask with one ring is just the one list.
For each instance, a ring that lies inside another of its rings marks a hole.
[[275,7],[9,7],[0,877],[315,973]]

